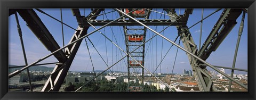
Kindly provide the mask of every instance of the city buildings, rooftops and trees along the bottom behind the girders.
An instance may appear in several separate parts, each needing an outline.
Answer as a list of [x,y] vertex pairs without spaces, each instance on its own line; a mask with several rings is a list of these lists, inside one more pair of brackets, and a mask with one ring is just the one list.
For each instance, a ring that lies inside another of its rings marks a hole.
[[[47,71],[31,71],[31,79],[33,79],[34,83],[34,90],[35,91],[41,91],[42,84],[46,81],[47,77],[50,76],[51,72]],[[97,73],[99,74],[99,73]],[[115,75],[114,75],[115,74]],[[100,75],[99,77],[95,78],[95,81],[107,81],[110,82],[108,84],[125,84],[128,82],[127,80],[127,73],[105,73]],[[141,76],[139,73],[133,73],[135,76]],[[47,77],[46,77],[47,76]],[[148,86],[155,86],[157,90],[166,90],[166,86],[164,84],[168,84],[173,90],[175,91],[199,91],[199,88],[197,86],[197,82],[193,76],[190,76],[189,74],[157,74],[160,78],[163,79],[164,83],[159,82],[155,78],[151,79],[151,74],[145,74],[146,81],[143,82],[143,85],[146,84]],[[234,78],[236,78],[239,81],[243,81],[244,84],[247,84],[247,74],[234,74]],[[62,88],[60,91],[66,91],[67,87],[70,85],[77,85],[79,84],[85,84],[87,81],[93,79],[93,73],[87,73],[87,72],[68,72],[68,75],[66,76],[66,82],[63,83]],[[151,79],[151,80],[150,80]],[[217,86],[217,91],[228,91],[227,85],[223,86],[224,83],[228,82],[228,79],[223,76],[213,76],[212,80],[214,80],[215,86]],[[170,82],[169,82],[170,81]],[[100,82],[100,83],[101,83]],[[141,80],[132,79],[130,82],[133,83],[141,83]],[[19,87],[19,89],[15,89]],[[23,87],[23,90],[20,88]],[[90,86],[87,86],[90,87]],[[85,88],[87,88],[85,87]],[[131,86],[134,87],[134,86]],[[137,86],[139,87],[139,86]],[[15,76],[13,78],[9,79],[9,89],[10,91],[29,91],[28,89],[28,77],[26,72],[20,73],[18,76]],[[131,89],[131,88],[129,88]],[[141,88],[142,89],[142,88]],[[139,91],[141,90],[139,89]],[[144,88],[145,89],[145,88]],[[84,89],[83,89],[84,90]],[[83,91],[81,90],[81,91]],[[143,89],[142,89],[143,90]],[[137,91],[137,90],[135,90]],[[246,91],[245,89],[241,89],[241,87],[237,85],[233,85],[231,91]]]

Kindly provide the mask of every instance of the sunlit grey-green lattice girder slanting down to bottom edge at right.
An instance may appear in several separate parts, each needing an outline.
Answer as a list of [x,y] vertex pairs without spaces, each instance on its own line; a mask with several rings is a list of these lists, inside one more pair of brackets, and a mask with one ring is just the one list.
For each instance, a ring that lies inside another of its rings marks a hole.
[[[189,30],[187,30],[187,26],[180,26],[178,27],[178,34],[182,40],[182,43],[187,49],[187,51],[196,54],[197,47],[196,44],[191,36]],[[194,76],[196,78],[198,87],[200,91],[215,91],[215,86],[211,80],[210,74],[207,72],[205,66],[202,66],[202,63],[198,63],[198,60],[195,59],[193,56],[188,55],[188,59],[193,70]],[[204,65],[204,64],[203,64]]]

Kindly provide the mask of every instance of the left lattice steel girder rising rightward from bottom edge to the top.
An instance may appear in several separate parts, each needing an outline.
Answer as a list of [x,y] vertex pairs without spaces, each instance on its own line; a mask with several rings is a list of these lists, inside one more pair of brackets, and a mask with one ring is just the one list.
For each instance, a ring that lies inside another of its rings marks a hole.
[[[91,14],[87,16],[87,18],[93,15],[100,14],[102,10],[103,9],[94,9],[91,12]],[[74,15],[76,16],[78,22],[84,18],[84,16],[80,15],[78,9],[73,9],[73,12],[75,13]],[[73,41],[85,36],[87,34],[88,29],[89,27],[78,27],[77,30],[75,31],[75,34],[70,39],[69,43],[72,43]],[[46,81],[46,84],[43,87],[42,91],[59,91],[81,43],[82,43],[82,40],[79,40],[77,41],[77,43],[65,48],[65,54],[68,57],[68,59],[62,64],[58,64],[55,66],[54,70],[51,73],[51,76]]]

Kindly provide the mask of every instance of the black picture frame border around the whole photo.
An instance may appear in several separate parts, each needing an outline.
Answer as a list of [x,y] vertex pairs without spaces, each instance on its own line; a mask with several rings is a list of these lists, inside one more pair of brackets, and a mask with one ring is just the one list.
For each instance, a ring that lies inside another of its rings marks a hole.
[[[255,0],[0,0],[0,99],[255,99]],[[8,9],[9,8],[249,8],[248,92],[209,93],[8,93]]]

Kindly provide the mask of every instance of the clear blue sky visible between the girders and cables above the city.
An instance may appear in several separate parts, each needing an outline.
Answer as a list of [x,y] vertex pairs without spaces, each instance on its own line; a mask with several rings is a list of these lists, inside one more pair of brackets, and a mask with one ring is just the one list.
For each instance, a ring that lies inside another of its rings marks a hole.
[[[44,12],[52,15],[54,18],[57,18],[60,20],[60,9],[41,9]],[[84,9],[80,9],[81,14],[84,15]],[[158,12],[162,12],[163,9],[153,9]],[[216,9],[204,9],[204,17],[214,12]],[[35,10],[36,11],[36,10]],[[112,9],[106,9],[105,12],[113,11]],[[177,13],[179,14],[179,9],[176,9]],[[222,10],[221,10],[222,11]],[[201,46],[204,43],[207,36],[210,34],[212,27],[217,22],[221,11],[213,14],[209,18],[205,19],[203,21],[203,29],[202,29],[202,41]],[[181,14],[183,14],[184,9],[181,9]],[[41,18],[41,20],[44,22],[47,29],[51,32],[54,39],[57,41],[57,43],[60,45],[60,47],[63,46],[62,44],[62,34],[61,34],[61,23],[58,21],[53,20],[49,16],[46,16],[42,13],[39,13],[36,11],[38,16]],[[90,9],[85,10],[85,15],[87,16],[90,13]],[[190,27],[194,23],[201,20],[201,14],[202,9],[194,9],[193,14],[189,16],[189,20],[187,23],[187,26]],[[116,16],[118,17],[119,14],[117,12],[108,13],[107,18],[108,19],[115,19]],[[161,14],[152,12],[150,15],[150,19],[159,19]],[[78,24],[76,21],[75,16],[73,16],[70,9],[62,9],[62,17],[63,22],[67,23],[69,26],[73,28],[77,28]],[[106,16],[102,17],[98,16],[97,19],[107,19]],[[236,41],[238,37],[238,27],[241,22],[242,14],[237,19],[237,24],[233,28],[233,30],[230,32],[230,34],[226,37],[225,40],[223,40],[222,44],[219,46],[217,51],[213,52],[209,59],[206,60],[206,62],[209,62],[212,65],[219,65],[219,66],[227,66],[231,67],[233,63],[234,58],[234,52],[236,47]],[[162,15],[161,19],[169,19],[169,16]],[[23,21],[23,19],[19,16],[19,22],[22,29],[22,35],[23,35],[23,41],[25,43],[25,49],[27,54],[28,63],[32,63],[37,61],[38,59],[41,59],[42,57],[46,56],[47,54],[50,54],[50,51],[47,51],[47,49],[44,47],[44,45],[36,38],[36,36],[33,34],[33,32],[30,31],[30,29],[26,26],[26,22]],[[237,60],[236,60],[236,66],[235,68],[241,68],[241,69],[247,69],[247,14],[245,15],[245,24],[244,24],[244,30],[241,37],[241,42],[239,44],[238,54],[237,54]],[[163,30],[166,26],[150,26],[152,29],[156,29],[157,32]],[[64,28],[64,41],[65,45],[67,45],[71,39],[71,37],[74,34],[74,30],[63,26]],[[96,27],[99,28],[99,27]],[[113,30],[111,30],[113,29]],[[89,28],[88,32],[93,31],[93,28]],[[125,41],[124,41],[124,32],[123,27],[114,26],[114,27],[106,27],[104,29],[100,30],[102,33],[105,33],[108,38],[114,41],[114,43],[117,43],[122,49],[126,51],[125,48]],[[194,38],[194,41],[196,45],[199,45],[199,34],[200,34],[200,23],[198,23],[196,26],[190,29],[190,32]],[[177,37],[178,31],[176,27],[172,26],[166,29],[164,32],[164,36],[171,39],[172,41]],[[150,30],[147,30],[147,36],[146,40],[149,39],[155,35]],[[108,61],[109,66],[115,63],[117,60],[122,58],[122,55],[125,55],[124,53],[121,53],[118,48],[111,44],[110,41],[106,40],[105,43],[105,37],[103,37],[99,32],[95,32],[94,34],[90,35],[89,38],[92,40],[92,43],[95,45],[99,53],[103,56],[103,59],[105,61]],[[116,38],[116,39],[115,39]],[[179,39],[178,39],[179,40]],[[177,40],[177,44],[178,44]],[[105,70],[107,66],[102,61],[98,53],[94,50],[91,43],[87,41],[89,44],[90,53],[92,55],[93,65],[95,70]],[[107,46],[106,46],[107,44]],[[163,53],[162,57],[165,55],[167,50],[172,44],[169,43],[166,40],[163,40]],[[180,45],[183,47],[182,42]],[[107,52],[106,52],[107,48]],[[145,67],[149,69],[150,71],[155,70],[156,66],[159,64],[161,60],[161,51],[162,51],[162,37],[155,37],[150,45],[149,43],[146,44],[145,51],[148,49],[148,52],[145,57]],[[156,72],[164,72],[164,73],[171,73],[175,53],[177,51],[177,47],[173,46],[171,48],[171,51],[167,54],[164,61]],[[108,59],[107,59],[108,56]],[[124,61],[119,62],[113,68],[112,70],[117,71],[127,71],[126,68],[126,59]],[[57,62],[57,60],[54,58],[54,56],[49,57],[48,59],[40,62],[40,63],[48,63],[48,62]],[[15,21],[15,16],[11,15],[9,16],[9,64],[14,65],[25,65],[25,61],[23,59],[22,54],[22,48],[20,45],[20,39],[19,34],[17,31],[17,23]],[[54,67],[55,65],[45,65],[49,67]],[[182,73],[182,70],[191,70],[191,66],[188,61],[188,57],[184,51],[179,49],[177,60],[175,62],[174,66],[174,73]],[[208,70],[212,70],[209,67],[207,67]],[[136,70],[136,69],[135,69]],[[86,48],[85,40],[82,41],[81,46],[79,47],[79,50],[76,54],[75,60],[72,63],[70,67],[70,71],[92,71],[92,65],[90,62],[89,53]],[[140,72],[139,69],[137,71]],[[231,72],[231,70],[225,70],[227,74]],[[241,72],[241,71],[235,71],[236,74],[247,74],[247,72]]]

